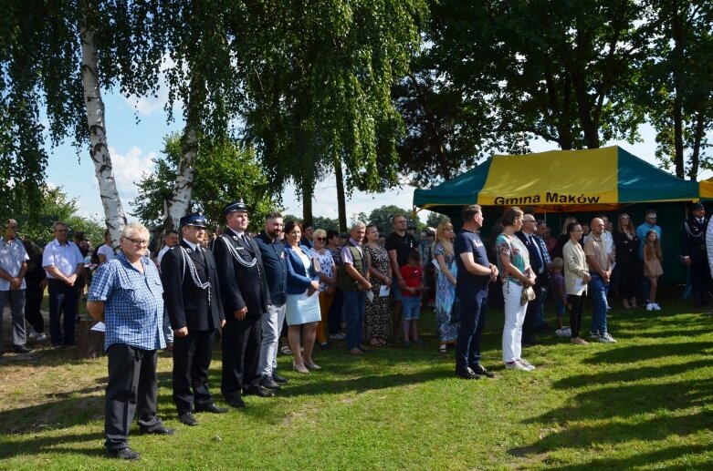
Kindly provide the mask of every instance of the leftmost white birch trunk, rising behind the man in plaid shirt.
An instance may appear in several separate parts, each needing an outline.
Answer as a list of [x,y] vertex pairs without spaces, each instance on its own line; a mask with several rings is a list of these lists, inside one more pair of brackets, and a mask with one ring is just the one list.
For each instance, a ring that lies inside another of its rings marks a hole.
[[99,67],[97,65],[97,46],[94,43],[91,30],[82,26],[80,34],[81,77],[87,106],[87,123],[89,124],[89,156],[94,162],[94,171],[99,182],[104,221],[111,232],[111,240],[116,247],[119,245],[121,230],[126,225],[126,216],[121,207],[119,192],[116,189],[116,180],[111,168],[111,157],[107,145],[104,101],[101,99]]

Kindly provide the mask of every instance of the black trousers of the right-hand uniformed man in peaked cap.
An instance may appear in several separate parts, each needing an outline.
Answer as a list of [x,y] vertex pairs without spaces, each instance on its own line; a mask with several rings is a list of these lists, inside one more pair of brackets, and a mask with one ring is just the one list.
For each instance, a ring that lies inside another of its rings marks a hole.
[[257,384],[260,379],[257,366],[262,341],[262,317],[248,315],[238,321],[233,312],[225,312],[225,319],[220,391],[225,400],[230,402],[240,398],[247,386]]

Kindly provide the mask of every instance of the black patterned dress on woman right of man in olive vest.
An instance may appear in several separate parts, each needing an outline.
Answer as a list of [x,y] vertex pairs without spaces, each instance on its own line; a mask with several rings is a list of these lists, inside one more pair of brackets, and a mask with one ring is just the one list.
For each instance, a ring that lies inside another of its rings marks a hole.
[[[364,250],[372,258],[372,268],[379,271],[384,276],[388,275],[389,254],[383,247],[372,247],[364,244]],[[389,307],[390,297],[379,296],[382,288],[382,281],[375,277],[371,278],[373,301],[366,299],[366,310],[364,312],[364,334],[367,339],[375,337],[390,337],[392,334],[392,313]]]

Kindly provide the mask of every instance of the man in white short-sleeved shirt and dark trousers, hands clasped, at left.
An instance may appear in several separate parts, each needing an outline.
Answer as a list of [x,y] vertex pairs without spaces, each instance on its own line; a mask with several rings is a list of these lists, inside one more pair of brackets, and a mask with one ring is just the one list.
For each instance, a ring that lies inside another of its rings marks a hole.
[[[68,225],[55,222],[55,240],[45,247],[42,268],[47,272],[49,292],[49,332],[52,346],[74,345],[74,322],[77,317],[77,290],[74,286],[84,269],[84,258],[79,247],[68,241]],[[59,326],[59,317],[64,312],[64,336]]]

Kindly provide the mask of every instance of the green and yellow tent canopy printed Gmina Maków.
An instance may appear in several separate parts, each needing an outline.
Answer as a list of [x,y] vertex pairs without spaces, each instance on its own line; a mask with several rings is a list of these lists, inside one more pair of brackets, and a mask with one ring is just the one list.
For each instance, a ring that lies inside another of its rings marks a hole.
[[695,200],[696,181],[678,179],[618,146],[496,155],[433,189],[414,191],[414,206],[438,212],[467,204],[571,212]]

